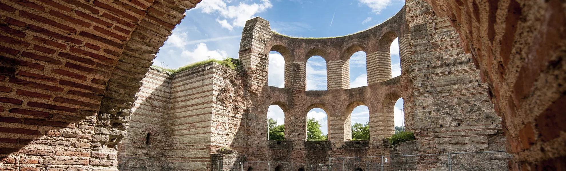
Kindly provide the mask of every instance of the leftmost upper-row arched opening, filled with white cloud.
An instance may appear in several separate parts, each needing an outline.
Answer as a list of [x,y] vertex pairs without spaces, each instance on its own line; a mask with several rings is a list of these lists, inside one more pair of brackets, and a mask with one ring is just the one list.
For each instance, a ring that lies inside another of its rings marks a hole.
[[281,54],[269,54],[267,85],[285,87],[285,59]]

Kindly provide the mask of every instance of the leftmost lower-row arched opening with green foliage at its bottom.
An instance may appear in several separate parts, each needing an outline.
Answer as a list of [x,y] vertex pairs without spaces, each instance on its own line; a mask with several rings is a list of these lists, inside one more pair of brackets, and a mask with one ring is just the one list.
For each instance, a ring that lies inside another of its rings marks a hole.
[[274,103],[267,109],[267,139],[285,140],[284,104]]

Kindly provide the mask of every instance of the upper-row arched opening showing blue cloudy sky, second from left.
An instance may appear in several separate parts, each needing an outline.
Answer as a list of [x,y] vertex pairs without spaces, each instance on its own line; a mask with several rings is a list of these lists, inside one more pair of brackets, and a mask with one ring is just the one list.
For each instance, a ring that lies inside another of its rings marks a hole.
[[328,90],[326,60],[321,56],[312,56],[306,65],[307,90]]

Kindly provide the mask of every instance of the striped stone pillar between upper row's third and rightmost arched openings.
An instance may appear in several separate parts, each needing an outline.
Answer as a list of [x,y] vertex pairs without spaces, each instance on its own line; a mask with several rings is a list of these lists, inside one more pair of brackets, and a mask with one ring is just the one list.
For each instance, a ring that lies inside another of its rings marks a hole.
[[391,54],[388,51],[376,51],[366,55],[367,85],[391,78]]

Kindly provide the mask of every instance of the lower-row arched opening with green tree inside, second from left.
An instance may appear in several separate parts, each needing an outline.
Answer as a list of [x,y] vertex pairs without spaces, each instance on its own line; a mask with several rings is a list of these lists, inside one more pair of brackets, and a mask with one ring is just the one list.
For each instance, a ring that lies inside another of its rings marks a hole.
[[307,113],[307,141],[328,140],[328,115],[321,108],[313,108]]

